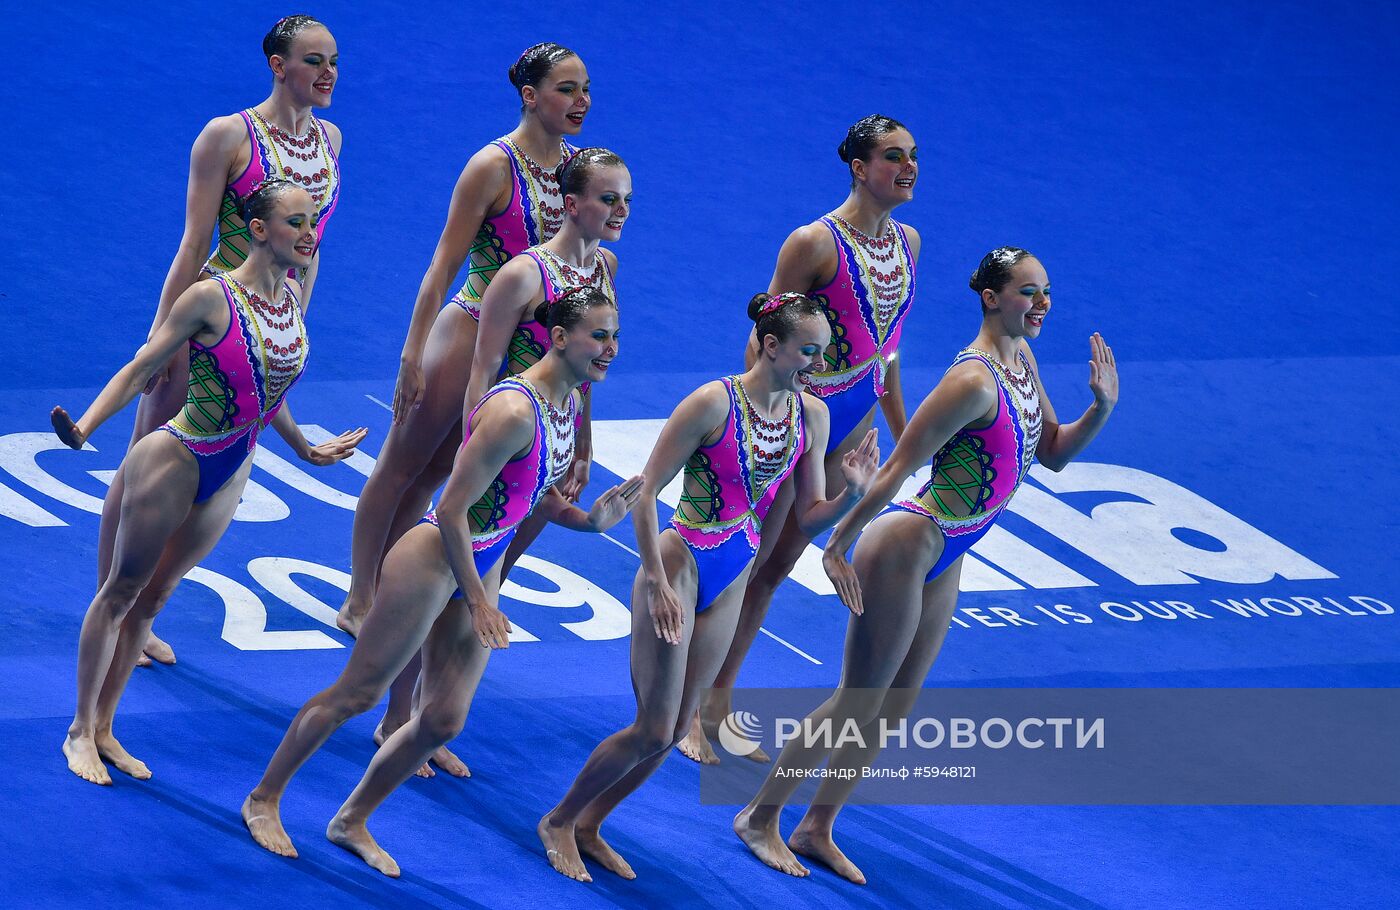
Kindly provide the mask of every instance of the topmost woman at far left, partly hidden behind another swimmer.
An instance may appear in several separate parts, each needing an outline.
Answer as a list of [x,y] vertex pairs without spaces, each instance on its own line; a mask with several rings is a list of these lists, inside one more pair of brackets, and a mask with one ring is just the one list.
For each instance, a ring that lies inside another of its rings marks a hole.
[[[148,337],[190,284],[244,262],[251,239],[242,218],[242,200],[269,178],[284,178],[305,188],[316,207],[316,253],[294,276],[301,284],[302,305],[311,301],[321,238],[340,197],[340,130],[316,118],[314,111],[330,105],[340,57],[335,38],[309,15],[288,15],[273,25],[263,38],[263,53],[273,74],[272,94],[255,108],[214,118],[195,140],[185,195],[185,234],[161,287]],[[181,349],[141,396],[127,448],[179,413],[188,381],[189,357]],[[118,470],[102,504],[98,587],[112,568],[125,484],[126,475]],[[141,657],[141,665],[150,664],[150,658],[175,662],[175,652],[155,636],[144,650],[148,657]]]

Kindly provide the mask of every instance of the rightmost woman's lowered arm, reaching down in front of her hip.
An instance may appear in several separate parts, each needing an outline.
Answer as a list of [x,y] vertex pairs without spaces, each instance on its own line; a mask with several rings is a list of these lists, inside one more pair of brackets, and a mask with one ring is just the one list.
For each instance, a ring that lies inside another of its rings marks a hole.
[[965,364],[949,370],[914,412],[889,461],[875,472],[875,480],[865,491],[865,497],[837,522],[822,554],[822,566],[836,584],[841,602],[853,613],[860,615],[865,609],[855,570],[846,560],[846,552],[851,549],[855,536],[889,505],[906,477],[930,461],[953,434],[970,423],[986,419],[995,407],[997,386],[986,368],[979,364]]

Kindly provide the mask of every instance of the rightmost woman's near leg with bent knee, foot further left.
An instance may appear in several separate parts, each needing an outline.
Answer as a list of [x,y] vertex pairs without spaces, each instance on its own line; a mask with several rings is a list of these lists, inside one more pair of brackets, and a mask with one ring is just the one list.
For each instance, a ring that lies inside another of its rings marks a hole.
[[[861,535],[853,566],[861,580],[865,613],[851,616],[846,626],[841,685],[809,715],[813,725],[829,721],[833,729],[840,729],[847,718],[864,725],[876,717],[883,700],[879,690],[895,679],[920,626],[924,575],[939,552],[942,533],[921,515],[892,512],[871,522]],[[819,743],[790,741],[763,787],[734,819],[734,830],[749,850],[790,875],[805,875],[806,869],[783,843],[778,815],[801,785],[801,771],[818,767],[827,757]]]

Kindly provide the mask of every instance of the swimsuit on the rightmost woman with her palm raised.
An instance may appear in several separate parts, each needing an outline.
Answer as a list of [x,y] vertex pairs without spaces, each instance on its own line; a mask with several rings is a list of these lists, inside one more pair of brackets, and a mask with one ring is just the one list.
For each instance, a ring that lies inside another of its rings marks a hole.
[[[981,430],[963,428],[938,449],[928,483],[892,510],[923,515],[944,532],[944,552],[928,584],[991,529],[1021,486],[1040,442],[1044,416],[1036,374],[1023,353],[1021,372],[980,350],[966,349],[952,365],[980,361],[997,382],[997,416]],[[949,367],[952,368],[952,367]]]

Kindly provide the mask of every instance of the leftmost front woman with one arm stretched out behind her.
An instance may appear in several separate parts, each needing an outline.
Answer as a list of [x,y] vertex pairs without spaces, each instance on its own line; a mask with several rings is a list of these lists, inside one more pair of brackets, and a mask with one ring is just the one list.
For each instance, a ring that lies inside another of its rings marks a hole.
[[364,438],[354,430],[309,445],[286,407],[307,363],[305,295],[294,279],[316,251],[316,206],[288,181],[269,181],[244,200],[246,259],[181,294],[155,335],[74,423],[53,409],[53,428],[83,448],[136,398],[175,351],[188,349],[185,407],[143,437],[122,462],[126,484],[115,557],[78,637],[78,699],[63,743],[69,769],[111,784],[104,760],[151,776],[112,735],[112,718],[151,622],[181,578],[209,554],[238,508],[258,434],[272,426],[304,461],[330,465]]

